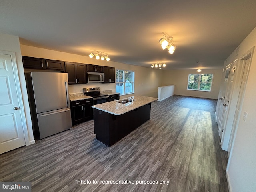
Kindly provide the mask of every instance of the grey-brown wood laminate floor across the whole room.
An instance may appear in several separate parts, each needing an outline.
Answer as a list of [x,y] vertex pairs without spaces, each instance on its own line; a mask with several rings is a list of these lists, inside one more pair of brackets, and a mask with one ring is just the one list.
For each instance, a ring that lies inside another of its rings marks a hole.
[[[90,120],[1,154],[0,181],[32,182],[32,192],[228,192],[216,103],[176,95],[153,102],[151,119],[110,148]],[[135,183],[100,183],[122,180]]]

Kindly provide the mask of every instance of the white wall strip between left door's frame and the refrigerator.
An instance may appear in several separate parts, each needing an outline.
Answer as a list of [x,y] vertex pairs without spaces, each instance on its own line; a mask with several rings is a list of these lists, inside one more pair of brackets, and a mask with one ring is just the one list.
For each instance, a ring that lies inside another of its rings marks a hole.
[[30,144],[33,144],[35,141],[34,141],[32,122],[30,117],[28,94],[26,89],[24,69],[23,69],[21,52],[20,52],[19,38],[17,36],[0,33],[0,50],[15,52],[18,75],[20,80],[20,88],[22,92],[23,106],[25,111],[26,125],[27,125],[27,131],[26,131],[27,133],[24,132],[25,141],[26,141],[26,145],[30,145]]

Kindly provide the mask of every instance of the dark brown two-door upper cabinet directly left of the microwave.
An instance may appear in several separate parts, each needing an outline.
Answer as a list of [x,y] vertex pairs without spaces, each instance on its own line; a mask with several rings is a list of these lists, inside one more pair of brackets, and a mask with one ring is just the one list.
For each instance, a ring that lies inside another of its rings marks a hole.
[[65,62],[68,84],[86,84],[86,64]]

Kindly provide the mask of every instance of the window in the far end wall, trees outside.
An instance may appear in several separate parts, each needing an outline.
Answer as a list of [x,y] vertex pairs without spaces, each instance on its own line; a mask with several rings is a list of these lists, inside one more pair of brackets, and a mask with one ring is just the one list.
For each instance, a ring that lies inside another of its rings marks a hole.
[[211,91],[213,74],[189,74],[188,90]]

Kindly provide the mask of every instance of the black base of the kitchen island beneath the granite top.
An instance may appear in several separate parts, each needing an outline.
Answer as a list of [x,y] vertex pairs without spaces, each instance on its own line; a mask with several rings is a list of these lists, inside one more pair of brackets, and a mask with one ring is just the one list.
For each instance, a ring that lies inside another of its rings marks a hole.
[[109,147],[112,146],[144,122],[150,120],[150,110],[151,103],[122,115],[113,115],[94,108],[96,139]]

